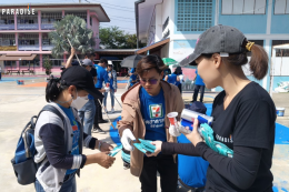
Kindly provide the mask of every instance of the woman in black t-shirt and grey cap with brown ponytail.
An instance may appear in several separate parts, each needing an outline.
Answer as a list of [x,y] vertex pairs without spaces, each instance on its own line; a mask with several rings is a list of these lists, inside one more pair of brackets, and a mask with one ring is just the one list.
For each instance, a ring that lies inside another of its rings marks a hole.
[[[223,88],[212,107],[212,130],[216,141],[231,150],[233,158],[210,149],[198,133],[198,121],[186,137],[191,143],[153,142],[157,155],[186,154],[202,156],[210,165],[206,192],[272,192],[272,153],[276,107],[268,92],[245,75],[241,65],[261,80],[268,71],[268,55],[262,47],[249,42],[238,29],[215,26],[200,36],[193,53],[186,60],[196,61],[208,89]],[[179,130],[170,127],[171,134]],[[189,162],[188,162],[189,163]]]

